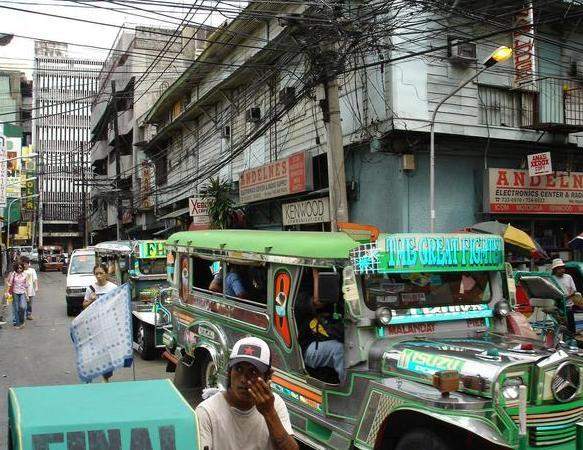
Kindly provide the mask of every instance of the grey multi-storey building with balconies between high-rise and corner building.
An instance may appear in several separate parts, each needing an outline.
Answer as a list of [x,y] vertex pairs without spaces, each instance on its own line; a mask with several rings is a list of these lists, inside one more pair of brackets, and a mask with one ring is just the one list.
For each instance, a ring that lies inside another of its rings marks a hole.
[[143,119],[198,57],[209,34],[206,28],[186,28],[174,36],[175,29],[133,27],[118,34],[92,105],[90,226],[95,242],[115,236],[118,222],[122,238],[149,235],[159,227],[153,215],[153,166],[141,149]]

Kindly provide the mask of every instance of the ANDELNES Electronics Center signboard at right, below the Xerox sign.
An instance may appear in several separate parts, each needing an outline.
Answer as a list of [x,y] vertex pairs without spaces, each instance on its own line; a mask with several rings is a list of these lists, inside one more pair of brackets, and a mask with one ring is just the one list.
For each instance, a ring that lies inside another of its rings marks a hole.
[[484,210],[494,214],[583,214],[583,172],[529,176],[488,169]]

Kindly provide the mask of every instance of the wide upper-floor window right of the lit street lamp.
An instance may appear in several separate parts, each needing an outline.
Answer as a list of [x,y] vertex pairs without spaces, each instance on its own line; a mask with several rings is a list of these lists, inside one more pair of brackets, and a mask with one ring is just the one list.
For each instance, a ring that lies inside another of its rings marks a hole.
[[480,124],[511,128],[531,124],[533,95],[514,89],[478,86]]

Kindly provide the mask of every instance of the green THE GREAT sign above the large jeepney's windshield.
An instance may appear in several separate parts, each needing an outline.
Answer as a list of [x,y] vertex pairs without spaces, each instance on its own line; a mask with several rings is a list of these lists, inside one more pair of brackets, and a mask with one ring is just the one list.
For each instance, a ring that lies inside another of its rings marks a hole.
[[381,235],[376,247],[359,247],[352,260],[358,273],[502,270],[504,242],[470,233]]

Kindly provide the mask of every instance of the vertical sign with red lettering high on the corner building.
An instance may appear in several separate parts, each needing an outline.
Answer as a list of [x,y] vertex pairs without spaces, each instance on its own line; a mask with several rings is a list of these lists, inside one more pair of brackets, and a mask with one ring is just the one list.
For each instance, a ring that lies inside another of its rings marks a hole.
[[532,4],[518,11],[514,18],[517,28],[513,35],[514,86],[534,87],[535,49]]

